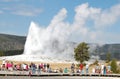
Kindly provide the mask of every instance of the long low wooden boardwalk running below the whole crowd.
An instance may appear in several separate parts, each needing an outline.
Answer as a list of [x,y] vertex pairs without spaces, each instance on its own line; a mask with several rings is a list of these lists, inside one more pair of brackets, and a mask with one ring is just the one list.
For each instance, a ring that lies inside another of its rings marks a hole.
[[[28,71],[0,71],[0,76],[29,76]],[[33,77],[35,76],[86,76],[86,77],[119,77],[120,74],[80,74],[80,73],[45,73],[42,72],[40,74],[35,73],[31,75]],[[1,78],[0,78],[1,79]]]

